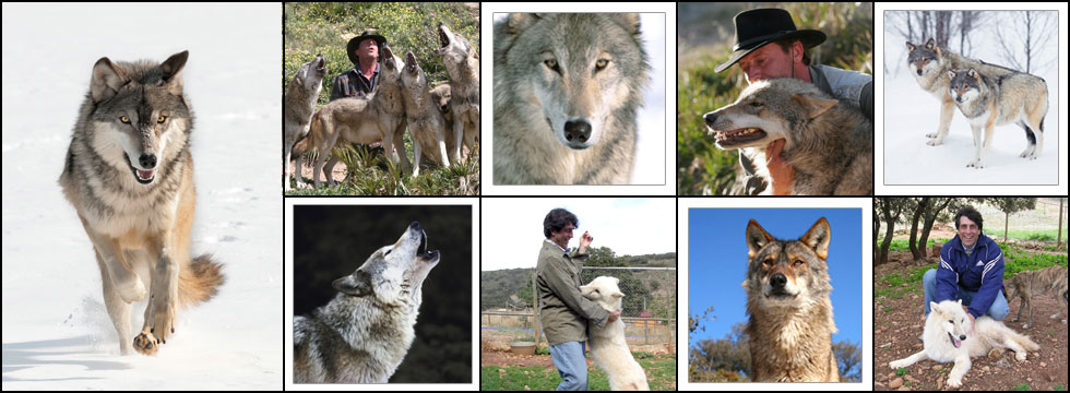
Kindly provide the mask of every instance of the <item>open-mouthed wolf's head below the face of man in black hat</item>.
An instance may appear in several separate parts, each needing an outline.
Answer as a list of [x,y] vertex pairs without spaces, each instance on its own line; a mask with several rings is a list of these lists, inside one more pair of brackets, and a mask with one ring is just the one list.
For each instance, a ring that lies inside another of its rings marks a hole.
[[796,132],[836,103],[810,83],[774,79],[754,82],[734,104],[702,118],[723,150],[765,147],[778,139],[789,150],[798,139]]

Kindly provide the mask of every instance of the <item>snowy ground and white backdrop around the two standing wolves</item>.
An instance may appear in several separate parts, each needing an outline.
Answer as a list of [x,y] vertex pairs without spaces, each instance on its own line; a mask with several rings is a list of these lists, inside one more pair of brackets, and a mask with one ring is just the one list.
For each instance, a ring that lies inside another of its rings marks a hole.
[[[881,17],[881,15],[878,15]],[[997,16],[1006,17],[1006,14]],[[892,25],[884,25],[884,52],[888,72],[884,74],[883,169],[884,184],[1056,184],[1059,176],[1066,178],[1066,169],[1059,174],[1059,146],[1062,119],[1059,119],[1060,95],[1057,62],[1049,63],[1034,74],[1048,84],[1048,114],[1044,119],[1044,150],[1036,160],[1020,158],[1025,150],[1025,131],[1014,124],[997,126],[986,157],[986,167],[966,167],[974,158],[973,132],[966,118],[954,109],[951,128],[943,145],[926,144],[927,133],[936,132],[940,119],[940,102],[922,90],[906,64],[906,45],[902,36],[894,34]],[[1006,22],[1006,21],[1004,21]],[[996,23],[987,24],[990,27]],[[1006,64],[997,56],[995,33],[978,28],[971,33],[972,58],[990,63]],[[1063,34],[1065,35],[1065,34]],[[918,43],[915,43],[918,44]],[[958,51],[958,40],[953,43]],[[1043,48],[1050,59],[1058,53],[1058,39]],[[878,145],[879,146],[879,145]]]

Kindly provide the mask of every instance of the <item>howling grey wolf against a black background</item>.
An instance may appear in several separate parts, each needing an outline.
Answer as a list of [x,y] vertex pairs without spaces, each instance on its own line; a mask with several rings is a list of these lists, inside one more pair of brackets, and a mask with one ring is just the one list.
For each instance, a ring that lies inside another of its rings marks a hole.
[[427,252],[427,234],[413,223],[335,279],[334,299],[294,318],[294,381],[385,383],[413,344],[420,289],[439,258],[438,250]]

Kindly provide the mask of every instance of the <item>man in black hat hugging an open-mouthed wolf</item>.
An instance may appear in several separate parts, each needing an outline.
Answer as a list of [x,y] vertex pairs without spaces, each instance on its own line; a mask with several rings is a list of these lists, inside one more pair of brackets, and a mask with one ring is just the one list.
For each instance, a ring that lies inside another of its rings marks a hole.
[[[825,35],[816,29],[797,29],[792,14],[782,9],[747,10],[733,19],[736,26],[736,44],[728,60],[714,71],[722,72],[738,63],[747,82],[794,78],[810,82],[821,91],[861,109],[873,121],[873,76],[861,72],[841,70],[828,66],[810,66],[806,50],[824,41]],[[774,45],[770,45],[774,44]],[[742,152],[739,163],[747,172],[745,192],[756,195],[766,187],[773,194],[787,194],[795,180],[795,169],[781,158],[784,140],[776,140],[765,147],[770,178],[768,184],[753,176],[757,168]]]

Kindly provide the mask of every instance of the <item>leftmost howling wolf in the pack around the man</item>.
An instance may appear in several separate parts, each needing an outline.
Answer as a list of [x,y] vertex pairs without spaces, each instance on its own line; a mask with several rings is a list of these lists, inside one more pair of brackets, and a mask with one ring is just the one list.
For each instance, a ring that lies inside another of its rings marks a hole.
[[[312,112],[316,110],[316,102],[320,98],[325,75],[326,61],[323,60],[323,55],[316,55],[316,59],[301,64],[286,86],[286,94],[283,96],[286,107],[283,119],[283,188],[286,191],[289,191],[290,153],[294,144],[308,135],[309,123],[312,122]],[[297,187],[301,188],[304,184],[301,157],[298,155]]]

